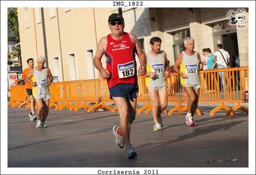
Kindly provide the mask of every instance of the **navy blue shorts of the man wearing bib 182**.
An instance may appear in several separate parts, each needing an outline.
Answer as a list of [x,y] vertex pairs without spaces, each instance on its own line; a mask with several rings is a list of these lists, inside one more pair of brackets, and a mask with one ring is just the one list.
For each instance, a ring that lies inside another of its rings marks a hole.
[[117,84],[112,88],[109,88],[110,98],[112,97],[123,97],[127,100],[132,100],[133,98],[137,98],[139,93],[138,84]]

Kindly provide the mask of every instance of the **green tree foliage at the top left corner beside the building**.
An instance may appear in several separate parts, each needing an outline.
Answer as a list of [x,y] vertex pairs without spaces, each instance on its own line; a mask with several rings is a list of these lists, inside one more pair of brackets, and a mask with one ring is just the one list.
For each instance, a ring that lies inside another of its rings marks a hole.
[[8,41],[19,43],[19,22],[17,8],[8,8]]

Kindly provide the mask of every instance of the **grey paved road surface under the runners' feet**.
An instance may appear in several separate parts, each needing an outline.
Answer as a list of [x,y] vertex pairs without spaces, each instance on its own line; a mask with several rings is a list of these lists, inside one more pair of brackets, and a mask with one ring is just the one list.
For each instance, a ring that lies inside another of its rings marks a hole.
[[[184,115],[163,114],[164,128],[153,131],[151,113],[132,125],[137,158],[128,160],[114,144],[118,113],[50,109],[47,128],[35,128],[28,109],[8,108],[8,167],[248,167],[248,116],[225,111],[210,118],[210,107],[185,125]],[[210,162],[208,160],[237,159]]]

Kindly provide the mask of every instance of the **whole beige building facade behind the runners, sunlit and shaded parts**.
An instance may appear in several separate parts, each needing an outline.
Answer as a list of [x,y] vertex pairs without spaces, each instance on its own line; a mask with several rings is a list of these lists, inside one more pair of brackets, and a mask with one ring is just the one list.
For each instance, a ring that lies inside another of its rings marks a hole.
[[[183,39],[191,36],[200,54],[203,48],[215,52],[222,43],[237,65],[248,66],[248,9],[243,8],[245,27],[230,25],[227,17],[238,9],[123,8],[124,31],[135,34],[145,52],[151,49],[150,38],[159,36],[171,65],[182,52]],[[92,61],[100,38],[110,33],[111,13],[117,8],[18,8],[23,69],[29,57],[46,55],[58,81],[97,79]]]

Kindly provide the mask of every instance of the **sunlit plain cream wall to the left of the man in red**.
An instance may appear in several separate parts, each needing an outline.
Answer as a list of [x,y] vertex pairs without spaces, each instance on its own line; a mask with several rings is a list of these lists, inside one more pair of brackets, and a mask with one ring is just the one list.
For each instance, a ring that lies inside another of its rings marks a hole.
[[[40,19],[40,9],[38,11],[37,8],[28,8],[30,27],[26,28],[23,17],[26,11],[18,8],[22,58],[34,57],[36,60],[37,56],[45,55],[47,51],[47,62],[55,75],[57,73],[54,62],[58,57],[58,79],[62,81],[71,80],[73,77],[70,76],[72,71],[69,62],[69,55],[73,54],[76,79],[98,78],[98,70],[94,68],[92,61],[100,38],[110,32],[107,19],[113,10],[114,8],[44,8],[44,38],[42,21],[37,22]],[[26,63],[26,59],[22,59],[22,63]]]

